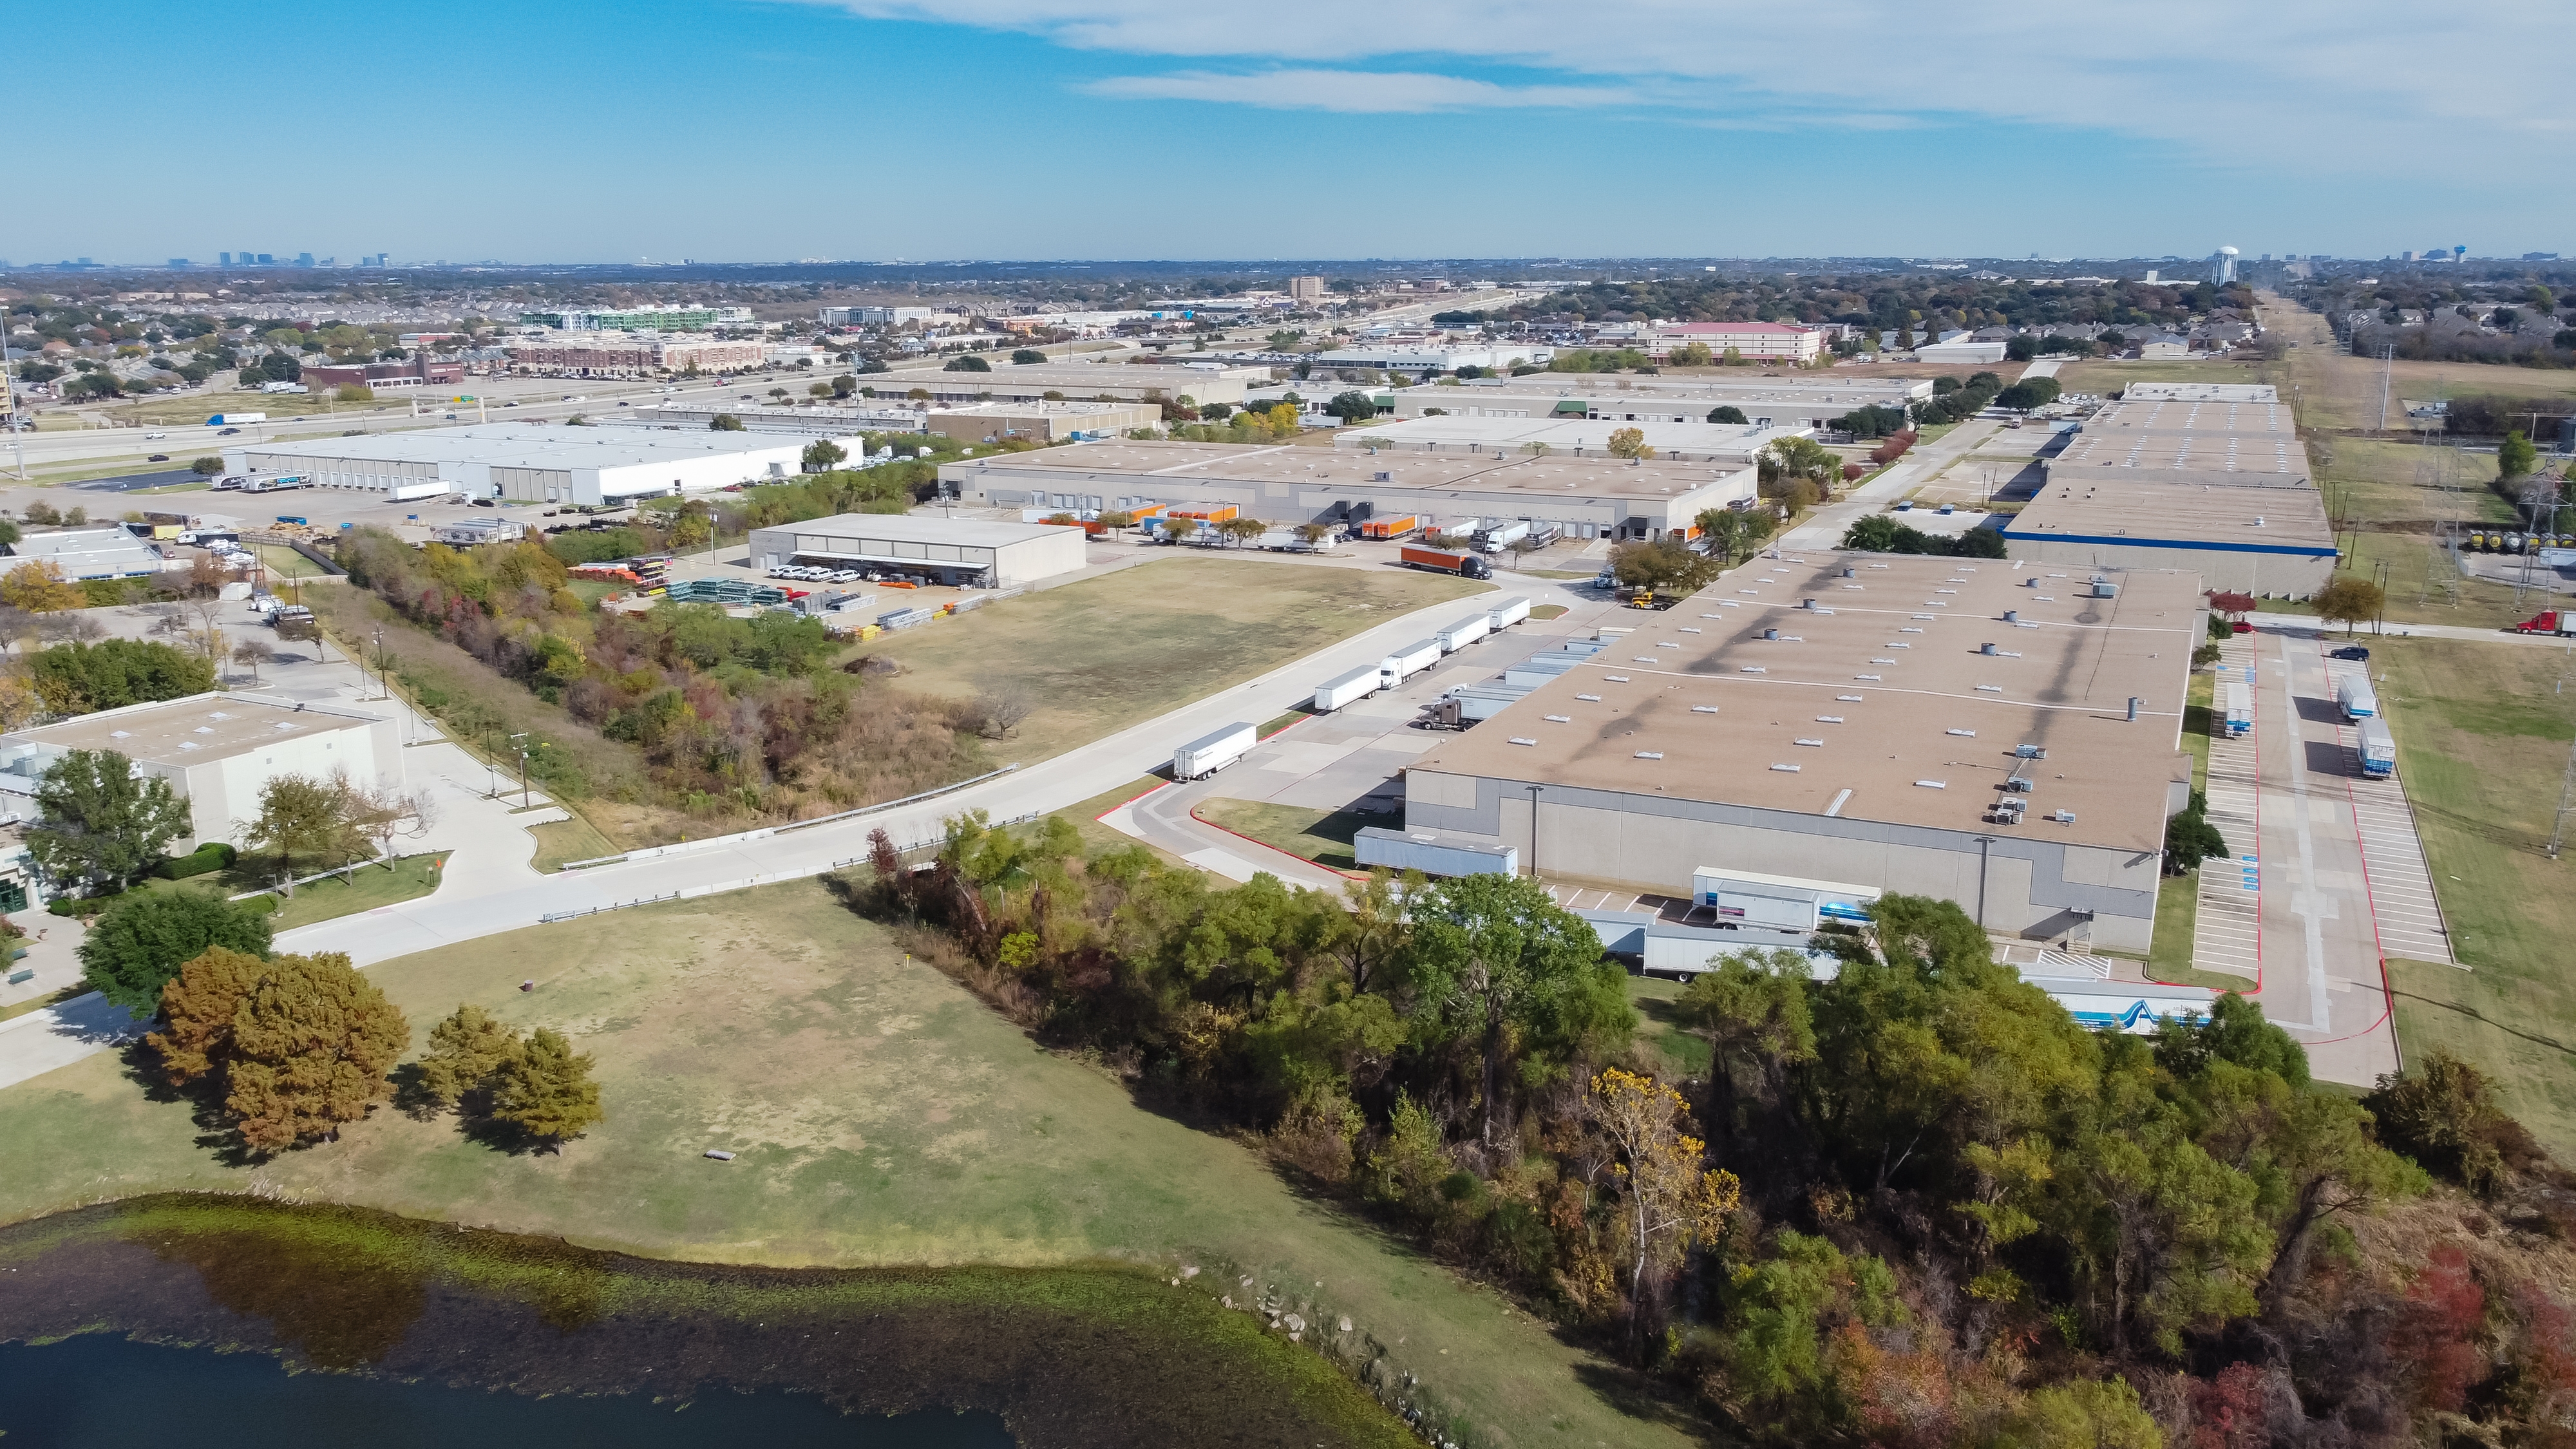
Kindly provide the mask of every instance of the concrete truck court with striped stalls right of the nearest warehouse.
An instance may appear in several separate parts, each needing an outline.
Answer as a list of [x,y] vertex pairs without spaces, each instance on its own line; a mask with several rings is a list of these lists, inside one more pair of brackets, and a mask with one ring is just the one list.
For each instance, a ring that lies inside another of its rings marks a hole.
[[2192,964],[2249,977],[2244,995],[2308,1047],[2318,1080],[2367,1085],[2398,1067],[2383,962],[2455,964],[2398,779],[2365,781],[2334,704],[2339,670],[2311,621],[2264,624],[2221,652],[2254,681],[2254,730],[2210,743],[2210,822],[2228,861],[2200,869]]

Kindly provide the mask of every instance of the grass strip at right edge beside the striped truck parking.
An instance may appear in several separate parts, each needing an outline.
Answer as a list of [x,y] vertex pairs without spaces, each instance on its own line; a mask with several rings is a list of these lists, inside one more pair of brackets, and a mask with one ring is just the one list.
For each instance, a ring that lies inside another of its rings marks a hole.
[[2409,1057],[2442,1044],[2496,1075],[2506,1109],[2576,1158],[2576,853],[2545,856],[2576,735],[2561,650],[2388,639],[2380,699],[2432,861],[2452,951],[2470,969],[2388,962]]

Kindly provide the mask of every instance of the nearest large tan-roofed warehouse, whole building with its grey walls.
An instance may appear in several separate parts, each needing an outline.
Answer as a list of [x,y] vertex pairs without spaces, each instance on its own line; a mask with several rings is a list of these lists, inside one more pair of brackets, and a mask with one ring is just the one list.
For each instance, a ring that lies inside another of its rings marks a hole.
[[1816,552],[1638,619],[1425,753],[1404,828],[1710,923],[1906,892],[2148,949],[2197,578]]

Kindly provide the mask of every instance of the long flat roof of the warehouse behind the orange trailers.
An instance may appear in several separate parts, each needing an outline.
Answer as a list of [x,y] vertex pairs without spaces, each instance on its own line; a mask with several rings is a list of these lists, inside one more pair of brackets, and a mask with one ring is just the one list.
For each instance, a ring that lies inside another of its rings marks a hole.
[[[1033,449],[994,459],[943,464],[940,477],[971,472],[984,477],[1056,480],[1084,477],[1118,487],[1136,482],[1314,482],[1337,487],[1425,487],[1466,492],[1533,492],[1558,498],[1651,498],[1713,487],[1736,472],[1713,464],[1625,464],[1615,459],[1494,456],[1494,454],[1404,454],[1355,456],[1345,449],[1242,446],[1242,443],[1077,443]],[[1378,474],[1391,474],[1378,480]]]

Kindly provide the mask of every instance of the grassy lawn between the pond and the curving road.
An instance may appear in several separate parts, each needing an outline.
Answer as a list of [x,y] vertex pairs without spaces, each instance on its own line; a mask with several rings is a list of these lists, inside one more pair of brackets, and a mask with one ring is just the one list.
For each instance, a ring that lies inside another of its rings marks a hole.
[[[368,977],[415,1047],[459,1000],[564,1029],[598,1057],[608,1122],[556,1158],[379,1109],[337,1142],[240,1168],[185,1101],[155,1101],[106,1052],[0,1098],[0,1220],[219,1189],[724,1263],[1216,1256],[1319,1284],[1492,1444],[1695,1441],[1618,1408],[1602,1387],[1618,1374],[1507,1299],[1041,1052],[817,884],[513,931]],[[708,1163],[708,1147],[739,1158]]]

